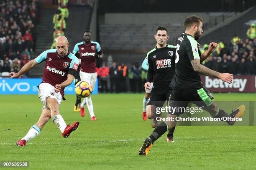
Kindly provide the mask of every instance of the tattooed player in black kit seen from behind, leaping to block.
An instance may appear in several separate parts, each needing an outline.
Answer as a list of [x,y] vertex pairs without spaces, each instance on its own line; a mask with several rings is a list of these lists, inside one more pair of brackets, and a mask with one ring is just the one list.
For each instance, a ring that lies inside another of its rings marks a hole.
[[[245,106],[239,106],[235,111],[228,115],[224,110],[220,110],[213,101],[211,93],[202,85],[200,74],[216,77],[224,82],[232,83],[233,75],[229,73],[219,73],[200,64],[218,46],[211,42],[208,50],[200,54],[197,47],[197,40],[202,35],[203,20],[195,15],[185,20],[185,33],[178,37],[177,51],[175,58],[175,75],[170,84],[172,94],[170,95],[170,107],[187,107],[189,102],[195,103],[198,107],[203,107],[214,118],[221,117],[241,117],[245,112]],[[161,137],[168,129],[172,129],[177,121],[175,118],[182,114],[179,112],[169,112],[167,118],[170,121],[161,122],[153,133],[144,140],[139,150],[139,155],[148,155],[153,143]],[[173,119],[173,120],[172,120]],[[227,120],[228,125],[233,125],[236,121]]]

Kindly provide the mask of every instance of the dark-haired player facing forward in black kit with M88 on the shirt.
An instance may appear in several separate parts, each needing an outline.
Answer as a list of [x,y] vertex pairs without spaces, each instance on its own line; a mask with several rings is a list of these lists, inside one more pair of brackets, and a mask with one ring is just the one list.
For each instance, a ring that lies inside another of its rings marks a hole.
[[[156,107],[162,107],[165,101],[169,101],[170,82],[175,71],[175,52],[176,47],[168,45],[166,41],[169,39],[168,30],[159,26],[156,29],[156,47],[147,54],[148,74],[145,89],[151,90],[151,97],[147,103],[146,115],[151,119],[151,127],[155,128],[158,124],[159,116],[156,114]],[[153,82],[154,77],[154,84]],[[146,91],[147,92],[147,91]],[[149,92],[149,91],[148,91]],[[170,129],[167,135],[167,142],[173,140],[174,128]]]

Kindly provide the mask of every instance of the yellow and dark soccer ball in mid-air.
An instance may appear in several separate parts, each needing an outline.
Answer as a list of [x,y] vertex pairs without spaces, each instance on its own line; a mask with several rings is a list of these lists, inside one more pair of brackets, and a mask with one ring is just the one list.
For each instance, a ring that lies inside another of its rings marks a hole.
[[92,86],[88,82],[79,81],[75,86],[78,97],[88,97],[92,93]]

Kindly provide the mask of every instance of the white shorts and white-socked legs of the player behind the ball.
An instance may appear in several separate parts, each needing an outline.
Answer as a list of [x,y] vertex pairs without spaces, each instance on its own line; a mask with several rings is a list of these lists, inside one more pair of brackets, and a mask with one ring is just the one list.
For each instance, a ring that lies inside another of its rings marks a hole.
[[[80,71],[80,77],[82,81],[88,82],[92,86],[92,91],[94,90],[95,83],[97,80],[97,72],[94,73],[87,73],[87,72],[82,72]],[[83,102],[80,105],[80,114],[82,117],[84,117],[84,106],[87,104],[87,108],[89,110],[91,120],[97,120],[94,111],[93,111],[93,105],[92,105],[92,93],[84,98]]]

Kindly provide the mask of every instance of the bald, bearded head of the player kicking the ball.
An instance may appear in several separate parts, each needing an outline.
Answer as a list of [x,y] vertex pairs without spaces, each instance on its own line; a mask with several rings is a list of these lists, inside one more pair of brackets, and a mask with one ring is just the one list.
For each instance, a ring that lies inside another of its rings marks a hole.
[[55,41],[55,45],[56,45],[58,54],[61,57],[64,57],[65,55],[67,55],[68,47],[69,47],[69,42],[67,40],[67,37],[62,35],[57,37]]

